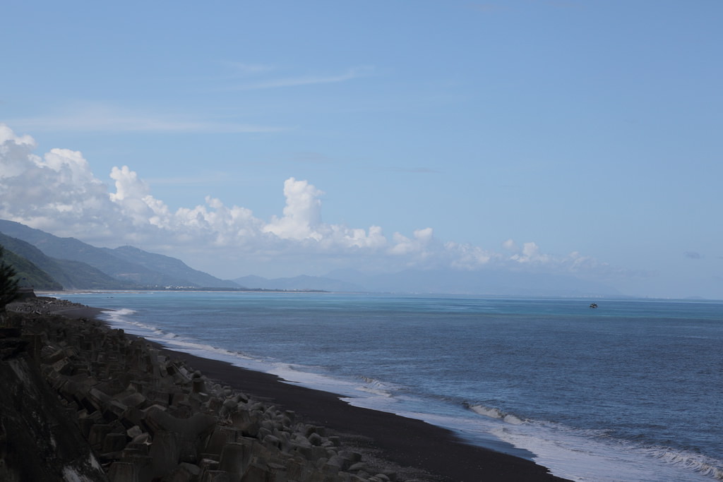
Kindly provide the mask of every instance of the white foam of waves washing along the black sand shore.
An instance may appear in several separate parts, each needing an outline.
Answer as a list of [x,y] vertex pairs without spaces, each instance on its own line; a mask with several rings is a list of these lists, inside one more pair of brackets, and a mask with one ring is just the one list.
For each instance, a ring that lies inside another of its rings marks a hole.
[[[352,405],[445,426],[487,447],[493,447],[499,441],[505,442],[524,452],[518,456],[530,457],[553,474],[573,481],[723,481],[721,462],[698,454],[606,439],[602,431],[573,430],[555,423],[523,420],[512,413],[485,405],[469,405],[469,410],[460,408],[458,416],[429,413],[434,409],[429,407],[428,400],[401,397],[398,387],[377,379],[343,380],[319,373],[321,367],[279,363],[216,348],[137,322],[133,319],[136,312],[129,309],[106,311],[104,314],[112,326],[124,328],[171,349],[228,361],[236,366],[276,374],[291,383],[338,393]],[[506,450],[502,447],[502,451]]]

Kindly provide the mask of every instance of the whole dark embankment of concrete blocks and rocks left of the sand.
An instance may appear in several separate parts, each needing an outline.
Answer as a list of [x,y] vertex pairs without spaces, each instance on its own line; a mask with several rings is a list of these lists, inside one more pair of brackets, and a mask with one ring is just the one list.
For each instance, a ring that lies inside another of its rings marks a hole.
[[294,412],[252,400],[77,305],[10,307],[0,336],[0,479],[393,481]]

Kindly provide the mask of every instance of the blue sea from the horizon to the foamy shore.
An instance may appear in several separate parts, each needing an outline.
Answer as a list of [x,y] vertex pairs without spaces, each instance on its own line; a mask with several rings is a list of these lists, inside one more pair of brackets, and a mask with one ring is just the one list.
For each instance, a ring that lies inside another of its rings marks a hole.
[[57,296],[168,348],[445,426],[574,481],[723,481],[723,301]]

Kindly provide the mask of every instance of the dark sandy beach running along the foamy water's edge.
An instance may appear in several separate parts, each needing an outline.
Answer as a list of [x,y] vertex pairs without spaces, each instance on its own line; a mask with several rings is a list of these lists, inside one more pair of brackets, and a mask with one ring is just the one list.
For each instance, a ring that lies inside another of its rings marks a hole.
[[[134,343],[138,346],[142,343],[150,347],[147,349],[152,353],[158,353],[159,360],[165,360],[164,367],[185,367],[187,371],[202,374],[203,379],[208,380],[207,386],[213,383],[223,390],[230,388],[234,393],[244,394],[240,397],[235,395],[239,400],[249,397],[251,400],[245,403],[246,406],[252,406],[252,401],[262,403],[268,410],[273,408],[277,416],[279,413],[294,413],[294,421],[303,421],[307,427],[323,427],[319,432],[333,441],[336,454],[359,454],[369,470],[361,473],[340,470],[324,480],[383,481],[384,477],[398,481],[563,480],[550,475],[546,468],[531,460],[466,444],[447,429],[392,413],[354,407],[340,400],[338,395],[286,383],[278,376],[168,350],[147,340],[119,334],[119,330],[111,330],[95,318],[100,311],[98,309],[68,305],[67,302],[57,302],[57,306],[53,306],[53,303],[48,304],[48,298],[41,299],[45,303],[45,311],[35,309],[36,317],[42,316],[43,312],[53,312],[76,322],[85,320],[82,323],[93,324],[97,328],[95,336],[100,336],[100,332],[112,332],[115,337],[124,338],[117,342],[121,345]],[[171,361],[180,362],[173,365]],[[228,392],[226,394],[228,397]],[[187,397],[187,401],[189,406],[193,406],[193,394]],[[171,408],[169,406],[168,410]],[[193,416],[194,413],[187,415]],[[322,462],[328,468],[328,462]],[[194,466],[202,467],[202,462],[196,462]]]

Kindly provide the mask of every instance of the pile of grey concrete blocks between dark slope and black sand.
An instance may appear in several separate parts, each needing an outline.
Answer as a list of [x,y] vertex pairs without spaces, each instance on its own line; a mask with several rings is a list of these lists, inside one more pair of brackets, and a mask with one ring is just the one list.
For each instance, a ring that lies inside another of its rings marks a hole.
[[[34,343],[32,356],[26,358],[40,361],[38,375],[42,373],[58,395],[43,385],[49,398],[65,405],[57,413],[77,421],[69,431],[87,441],[82,443],[88,457],[93,457],[88,443],[102,454],[111,481],[343,482],[368,477],[361,455],[345,449],[338,436],[327,437],[324,427],[296,423],[292,410],[221,387],[145,340],[129,340],[122,330],[98,322],[44,315],[25,319],[23,326],[30,331],[22,333],[22,343]],[[13,345],[1,336],[0,341],[0,359],[22,353],[20,342]],[[6,426],[6,408],[30,400],[23,390],[25,384],[15,392],[0,392],[0,448],[3,434],[17,432]],[[3,402],[9,395],[15,398]],[[32,440],[54,436],[42,433]],[[8,460],[17,457],[3,458],[0,452],[0,480],[56,480],[38,475],[36,467],[36,472],[24,474],[32,476],[18,479],[7,472]],[[86,476],[78,469],[77,480],[105,480],[97,461],[90,467],[95,473],[88,469],[93,475]],[[374,479],[387,482],[380,475]],[[394,479],[388,477],[389,482]]]

